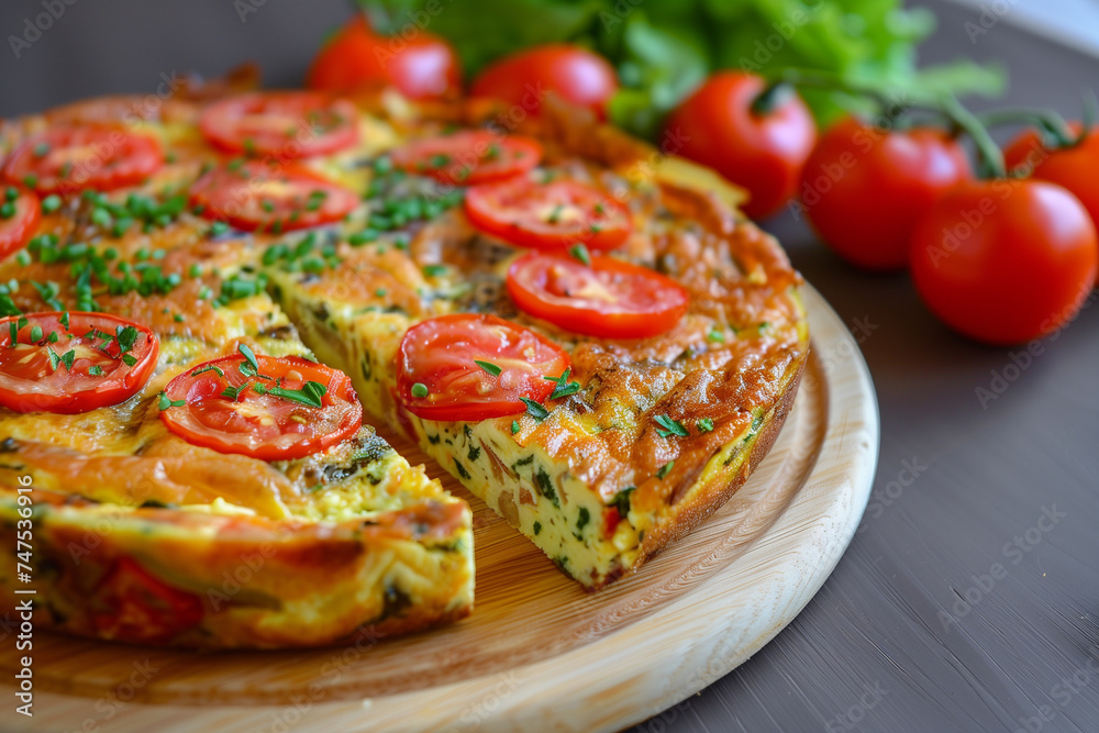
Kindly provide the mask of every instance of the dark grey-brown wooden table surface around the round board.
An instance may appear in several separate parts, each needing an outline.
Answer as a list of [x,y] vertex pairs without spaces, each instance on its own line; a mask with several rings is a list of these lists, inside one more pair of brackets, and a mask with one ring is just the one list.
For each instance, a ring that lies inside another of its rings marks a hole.
[[[52,2],[64,13],[19,48],[8,36],[41,0],[0,3],[0,114],[155,93],[164,76],[251,58],[269,84],[293,86],[347,13],[341,0]],[[1099,86],[1099,59],[1004,21],[973,43],[965,23],[978,11],[933,7],[925,60],[1000,59],[1004,101],[1075,114],[1080,89]],[[952,335],[906,276],[855,273],[791,220],[767,225],[862,337],[881,408],[878,477],[859,533],[801,615],[635,730],[1099,731],[1095,299],[1026,358]]]

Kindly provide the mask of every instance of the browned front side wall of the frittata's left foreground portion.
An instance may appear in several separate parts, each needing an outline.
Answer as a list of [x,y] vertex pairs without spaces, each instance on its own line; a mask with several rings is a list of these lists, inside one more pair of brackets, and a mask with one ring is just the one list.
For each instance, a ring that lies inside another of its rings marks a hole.
[[[456,502],[429,501],[369,523],[326,525],[168,509],[81,511],[96,504],[56,492],[31,496],[37,507],[35,563],[43,569],[36,623],[43,628],[182,648],[285,648],[344,643],[364,630],[376,638],[391,636],[470,611],[468,603],[453,602],[463,590],[453,573],[440,575],[452,587],[441,586],[422,602],[413,604],[396,587],[390,595],[387,587],[373,617],[364,618],[355,601],[379,570],[378,559],[408,557],[410,545],[434,547],[440,562],[463,564],[462,548],[447,546],[468,526],[468,510]],[[14,525],[3,514],[0,540],[14,546]],[[119,603],[103,581],[120,563],[137,563],[152,582],[168,582],[170,591],[155,591],[154,598],[170,593],[177,614],[202,619],[169,633],[142,618],[141,607]],[[8,587],[4,580],[0,585]],[[293,619],[296,607],[319,598],[326,599],[323,618]]]

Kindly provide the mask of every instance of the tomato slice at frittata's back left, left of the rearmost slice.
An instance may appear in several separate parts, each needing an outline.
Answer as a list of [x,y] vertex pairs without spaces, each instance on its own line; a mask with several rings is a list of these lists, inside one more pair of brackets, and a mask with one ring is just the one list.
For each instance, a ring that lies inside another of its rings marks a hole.
[[107,125],[58,125],[23,142],[4,178],[38,193],[100,191],[141,184],[164,165],[155,137]]

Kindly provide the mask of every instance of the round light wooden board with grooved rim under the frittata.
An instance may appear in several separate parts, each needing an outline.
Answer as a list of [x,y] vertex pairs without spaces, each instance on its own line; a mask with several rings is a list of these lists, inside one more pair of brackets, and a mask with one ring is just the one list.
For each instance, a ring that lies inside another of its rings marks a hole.
[[[477,607],[349,647],[197,654],[34,636],[34,731],[614,731],[725,675],[809,602],[858,526],[878,414],[854,340],[812,288],[813,351],[745,486],[640,574],[596,593],[437,467],[475,511]],[[395,445],[412,463],[426,459]],[[429,464],[430,466],[431,464]],[[11,637],[0,667],[16,666]]]

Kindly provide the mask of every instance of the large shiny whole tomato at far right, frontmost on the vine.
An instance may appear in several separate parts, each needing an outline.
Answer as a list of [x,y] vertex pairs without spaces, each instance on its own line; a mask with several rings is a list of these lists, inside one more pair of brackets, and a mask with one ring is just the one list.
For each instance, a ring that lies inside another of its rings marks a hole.
[[1099,268],[1099,243],[1072,193],[1036,180],[962,184],[932,204],[912,240],[928,307],[977,341],[1017,344],[1072,320]]

